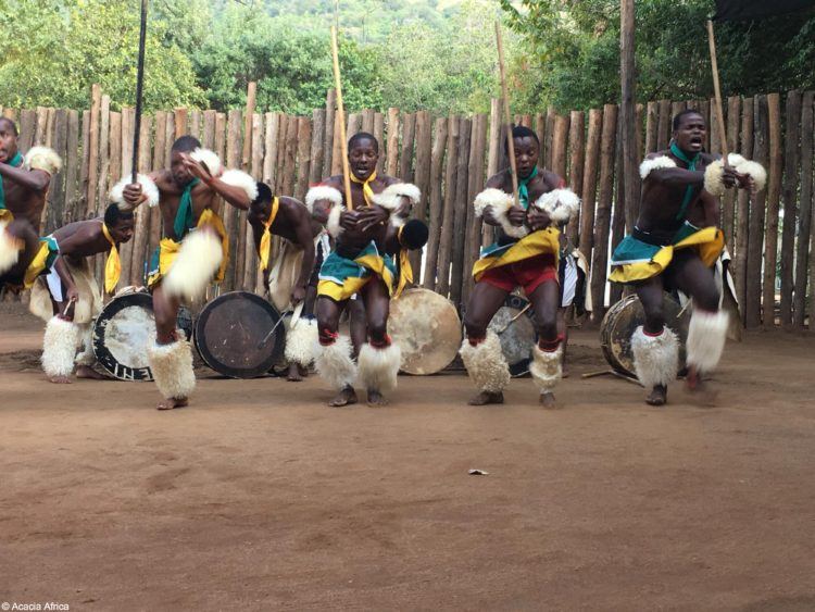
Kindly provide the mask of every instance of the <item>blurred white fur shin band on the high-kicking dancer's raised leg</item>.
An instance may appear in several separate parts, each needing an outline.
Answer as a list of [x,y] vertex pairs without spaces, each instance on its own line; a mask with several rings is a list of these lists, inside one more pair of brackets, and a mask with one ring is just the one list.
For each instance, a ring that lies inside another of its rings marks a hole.
[[224,258],[221,240],[208,230],[189,234],[162,285],[170,296],[195,300],[204,292]]

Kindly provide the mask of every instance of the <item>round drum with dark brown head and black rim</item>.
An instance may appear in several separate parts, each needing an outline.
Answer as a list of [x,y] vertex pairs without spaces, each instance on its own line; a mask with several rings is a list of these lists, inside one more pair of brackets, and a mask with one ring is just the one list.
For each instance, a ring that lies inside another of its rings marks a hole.
[[196,322],[195,341],[201,359],[215,372],[255,378],[283,357],[286,328],[266,300],[248,291],[231,291],[203,308]]

